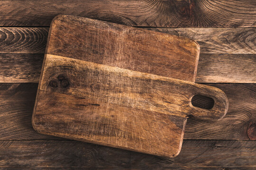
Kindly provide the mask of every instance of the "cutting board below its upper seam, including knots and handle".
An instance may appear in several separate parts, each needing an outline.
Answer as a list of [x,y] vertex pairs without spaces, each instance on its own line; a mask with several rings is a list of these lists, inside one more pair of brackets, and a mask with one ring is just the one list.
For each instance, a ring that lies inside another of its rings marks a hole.
[[[220,119],[228,110],[221,90],[189,81],[49,54],[42,70],[32,125],[47,135],[173,157],[186,118]],[[214,107],[192,106],[197,93]]]

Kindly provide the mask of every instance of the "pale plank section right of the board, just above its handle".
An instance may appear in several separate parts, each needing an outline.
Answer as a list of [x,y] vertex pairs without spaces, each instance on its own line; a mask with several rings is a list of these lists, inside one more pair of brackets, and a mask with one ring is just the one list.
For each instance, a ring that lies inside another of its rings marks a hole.
[[197,83],[256,83],[256,54],[200,54]]

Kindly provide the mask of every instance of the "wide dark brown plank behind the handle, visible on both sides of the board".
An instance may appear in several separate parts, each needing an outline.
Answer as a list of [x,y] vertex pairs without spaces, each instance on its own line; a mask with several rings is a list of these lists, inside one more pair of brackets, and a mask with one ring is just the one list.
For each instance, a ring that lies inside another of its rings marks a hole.
[[[254,84],[210,84],[223,90],[229,101],[227,115],[219,123],[189,119],[185,128],[186,139],[253,140],[247,129],[255,118]],[[0,140],[61,139],[42,135],[31,125],[32,112],[38,84],[0,84]],[[207,103],[206,103],[207,104]],[[198,132],[197,132],[198,131]],[[253,133],[252,133],[253,134]]]

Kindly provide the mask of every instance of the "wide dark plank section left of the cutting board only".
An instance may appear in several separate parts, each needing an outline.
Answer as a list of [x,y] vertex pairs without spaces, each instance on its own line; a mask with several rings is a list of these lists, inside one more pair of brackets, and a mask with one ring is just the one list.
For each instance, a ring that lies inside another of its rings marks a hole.
[[38,84],[0,84],[0,140],[61,139],[37,133],[31,124]]

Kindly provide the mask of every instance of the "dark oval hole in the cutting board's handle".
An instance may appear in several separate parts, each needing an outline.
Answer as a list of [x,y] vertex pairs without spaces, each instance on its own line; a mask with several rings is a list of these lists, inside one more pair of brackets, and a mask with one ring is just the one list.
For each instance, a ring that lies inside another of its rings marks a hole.
[[192,97],[191,104],[195,107],[210,110],[214,106],[214,100],[210,97],[196,94]]

